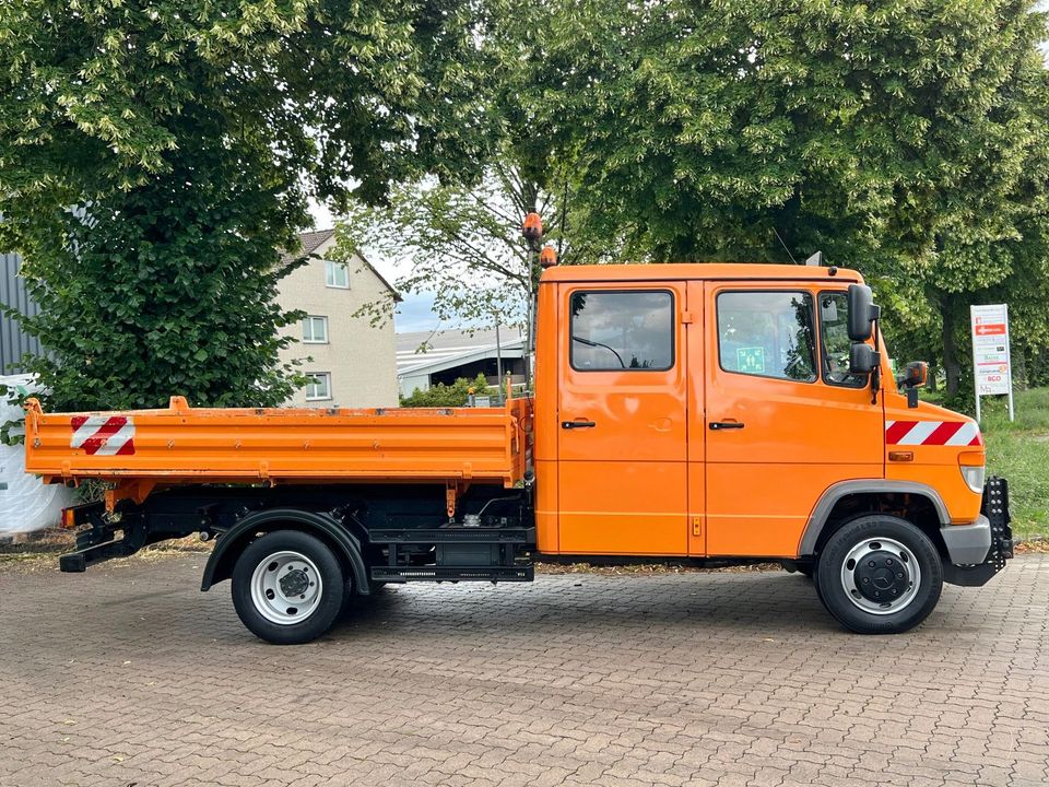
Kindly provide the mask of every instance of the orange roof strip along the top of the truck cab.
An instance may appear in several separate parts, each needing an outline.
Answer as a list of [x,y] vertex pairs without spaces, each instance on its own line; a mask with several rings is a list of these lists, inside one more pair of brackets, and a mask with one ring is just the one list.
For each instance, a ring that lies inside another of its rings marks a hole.
[[[832,275],[830,271],[836,272]],[[758,262],[651,262],[628,265],[555,266],[543,271],[545,282],[680,281],[683,279],[745,281],[862,282],[848,268],[765,265]]]

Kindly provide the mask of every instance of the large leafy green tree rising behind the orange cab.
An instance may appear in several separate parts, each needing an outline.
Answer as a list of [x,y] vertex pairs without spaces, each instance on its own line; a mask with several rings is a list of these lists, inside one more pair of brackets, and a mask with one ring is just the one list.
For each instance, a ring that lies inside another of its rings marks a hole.
[[562,119],[577,155],[576,232],[649,261],[821,249],[883,298],[935,309],[957,390],[958,315],[1011,281],[1025,255],[1010,245],[1041,210],[1025,174],[1045,145],[1042,14],[1004,0],[588,0],[556,20],[558,86],[535,111]]

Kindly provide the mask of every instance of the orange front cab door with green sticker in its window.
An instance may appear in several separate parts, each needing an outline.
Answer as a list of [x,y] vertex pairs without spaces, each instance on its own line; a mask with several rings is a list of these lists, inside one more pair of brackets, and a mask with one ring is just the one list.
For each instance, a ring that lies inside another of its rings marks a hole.
[[845,291],[705,291],[707,553],[795,556],[828,486],[884,472],[882,403],[848,373]]

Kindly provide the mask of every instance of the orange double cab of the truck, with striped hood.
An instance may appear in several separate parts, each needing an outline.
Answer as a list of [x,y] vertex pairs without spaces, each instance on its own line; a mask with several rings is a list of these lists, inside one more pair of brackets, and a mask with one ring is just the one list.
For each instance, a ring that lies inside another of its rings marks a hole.
[[[844,524],[881,517],[891,527],[858,537],[867,545],[846,562],[873,562],[894,582],[850,577],[856,611],[884,624],[911,597],[920,566],[889,537],[900,524],[935,549],[931,573],[986,582],[975,566],[1001,532],[981,514],[979,427],[897,384],[876,317],[860,274],[839,268],[545,271],[539,551],[766,559],[811,573]],[[867,337],[852,327],[864,321]],[[886,587],[869,599],[872,583]]]

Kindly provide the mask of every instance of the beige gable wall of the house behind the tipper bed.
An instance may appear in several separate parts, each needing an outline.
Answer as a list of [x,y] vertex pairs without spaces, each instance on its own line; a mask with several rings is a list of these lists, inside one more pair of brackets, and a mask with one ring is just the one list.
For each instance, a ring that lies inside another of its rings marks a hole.
[[331,398],[306,399],[300,389],[288,400],[293,407],[370,408],[396,407],[397,348],[392,317],[381,327],[374,327],[369,317],[354,317],[367,303],[388,299],[390,291],[370,266],[354,256],[350,263],[350,287],[330,287],[326,281],[325,251],[333,240],[321,244],[311,259],[285,277],[280,284],[278,303],[284,309],[302,309],[308,315],[328,318],[328,343],[303,343],[303,326],[296,322],[283,332],[296,342],[281,351],[283,361],[311,359],[299,367],[303,372],[331,375]]

